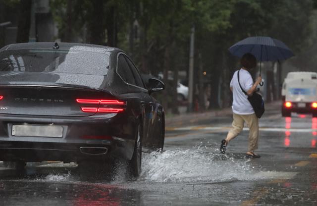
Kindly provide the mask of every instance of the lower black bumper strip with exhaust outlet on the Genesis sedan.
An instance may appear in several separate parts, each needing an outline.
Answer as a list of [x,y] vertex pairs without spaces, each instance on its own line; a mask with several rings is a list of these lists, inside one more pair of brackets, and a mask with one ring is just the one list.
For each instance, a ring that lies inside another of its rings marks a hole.
[[[117,154],[116,154],[117,153]],[[61,144],[61,143],[0,143],[2,161],[81,161],[106,160],[111,156],[122,156],[118,148],[112,145]]]

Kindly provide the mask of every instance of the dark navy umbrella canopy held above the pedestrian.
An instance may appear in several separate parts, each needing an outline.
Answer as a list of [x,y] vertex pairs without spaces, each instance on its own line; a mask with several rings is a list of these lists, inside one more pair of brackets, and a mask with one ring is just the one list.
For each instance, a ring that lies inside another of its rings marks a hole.
[[270,37],[248,37],[231,46],[229,51],[238,57],[252,53],[258,61],[285,60],[294,56],[283,42]]

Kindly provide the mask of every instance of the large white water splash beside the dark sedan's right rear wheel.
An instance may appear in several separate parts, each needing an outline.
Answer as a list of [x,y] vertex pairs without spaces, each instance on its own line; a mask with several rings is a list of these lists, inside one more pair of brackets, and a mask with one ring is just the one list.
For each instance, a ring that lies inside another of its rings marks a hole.
[[250,178],[245,159],[211,154],[202,149],[175,149],[143,156],[140,180],[161,183],[227,182]]

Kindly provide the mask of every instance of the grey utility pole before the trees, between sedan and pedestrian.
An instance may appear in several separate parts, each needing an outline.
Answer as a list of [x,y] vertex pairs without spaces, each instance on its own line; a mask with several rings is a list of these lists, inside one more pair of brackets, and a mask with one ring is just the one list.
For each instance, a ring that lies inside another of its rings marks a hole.
[[188,72],[188,106],[187,111],[193,111],[193,93],[194,93],[194,44],[195,43],[195,25],[192,27],[190,35],[189,51],[189,72]]

